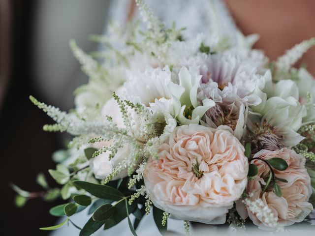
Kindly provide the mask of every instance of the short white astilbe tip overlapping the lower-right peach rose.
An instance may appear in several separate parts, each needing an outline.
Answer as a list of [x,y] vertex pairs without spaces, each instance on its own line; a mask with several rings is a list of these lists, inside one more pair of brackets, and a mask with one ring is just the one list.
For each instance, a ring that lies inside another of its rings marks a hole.
[[271,212],[271,209],[264,204],[264,202],[257,198],[255,200],[251,200],[249,198],[245,198],[242,201],[248,209],[259,218],[264,225],[269,228],[280,230],[281,227],[278,225],[278,218]]

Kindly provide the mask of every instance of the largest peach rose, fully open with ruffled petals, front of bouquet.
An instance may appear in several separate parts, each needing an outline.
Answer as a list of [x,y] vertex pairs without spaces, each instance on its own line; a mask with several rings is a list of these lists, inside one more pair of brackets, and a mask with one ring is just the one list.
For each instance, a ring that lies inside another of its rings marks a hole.
[[144,172],[153,204],[175,219],[223,224],[246,185],[244,147],[227,126],[176,127]]

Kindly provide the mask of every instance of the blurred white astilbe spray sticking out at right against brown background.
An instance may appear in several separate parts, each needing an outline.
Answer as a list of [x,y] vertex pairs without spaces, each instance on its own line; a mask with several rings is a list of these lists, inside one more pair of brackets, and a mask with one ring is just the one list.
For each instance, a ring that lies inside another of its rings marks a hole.
[[277,59],[276,67],[283,71],[288,71],[295,62],[297,62],[304,53],[315,45],[315,38],[304,40],[303,42],[296,44],[290,50]]

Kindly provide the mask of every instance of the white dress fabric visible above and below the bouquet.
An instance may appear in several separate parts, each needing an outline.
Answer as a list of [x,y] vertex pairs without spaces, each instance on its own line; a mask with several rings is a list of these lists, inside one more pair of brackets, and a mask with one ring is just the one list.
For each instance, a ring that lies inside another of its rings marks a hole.
[[[227,8],[221,0],[144,0],[148,6],[153,10],[154,14],[166,24],[171,26],[176,22],[177,28],[185,27],[183,36],[187,39],[193,38],[197,33],[215,30],[222,35],[229,35],[233,40],[236,40],[237,28],[231,18]],[[126,17],[130,0],[114,0],[111,5],[109,19],[113,19],[120,24],[126,23]],[[136,12],[135,15],[139,13]],[[105,27],[106,31],[106,27]],[[84,210],[74,216],[71,220],[78,226],[83,227],[91,215],[87,215]],[[131,221],[134,219],[130,215]],[[61,219],[62,221],[63,219]],[[314,226],[313,226],[314,227]],[[183,221],[168,219],[168,231],[185,235]],[[228,231],[229,232],[229,231]],[[222,235],[227,235],[228,232],[221,232]],[[199,227],[190,227],[191,235],[221,235],[216,226],[200,225]],[[235,232],[230,232],[235,235]],[[268,232],[256,232],[256,227],[248,229],[246,233],[240,235],[268,235]],[[138,229],[138,236],[159,236],[158,229],[154,223],[152,214],[145,216]],[[272,233],[270,233],[272,234]],[[303,232],[304,236],[308,232]],[[76,236],[79,235],[79,230],[69,224],[68,227],[63,227],[52,233],[52,236]],[[98,230],[94,236],[132,236],[127,220],[123,220],[115,227],[103,231],[102,228]],[[279,234],[282,235],[282,234]],[[285,235],[290,235],[286,232]],[[310,234],[311,235],[311,234]]]

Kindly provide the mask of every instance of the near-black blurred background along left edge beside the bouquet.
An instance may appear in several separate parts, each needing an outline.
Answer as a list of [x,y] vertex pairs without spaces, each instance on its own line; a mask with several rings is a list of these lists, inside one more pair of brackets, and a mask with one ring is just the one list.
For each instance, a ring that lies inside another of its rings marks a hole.
[[[13,0],[11,5],[11,66],[10,83],[4,95],[0,113],[0,180],[1,180],[1,235],[48,235],[40,227],[51,226],[57,218],[48,211],[58,202],[30,200],[25,207],[14,205],[13,182],[28,191],[42,191],[35,183],[37,173],[54,168],[50,156],[61,148],[57,134],[42,130],[51,123],[42,111],[29,100],[33,94],[44,100],[32,84],[32,16],[36,0]],[[1,35],[2,37],[2,35]],[[3,69],[3,68],[2,68]],[[51,186],[56,185],[45,172]]]

